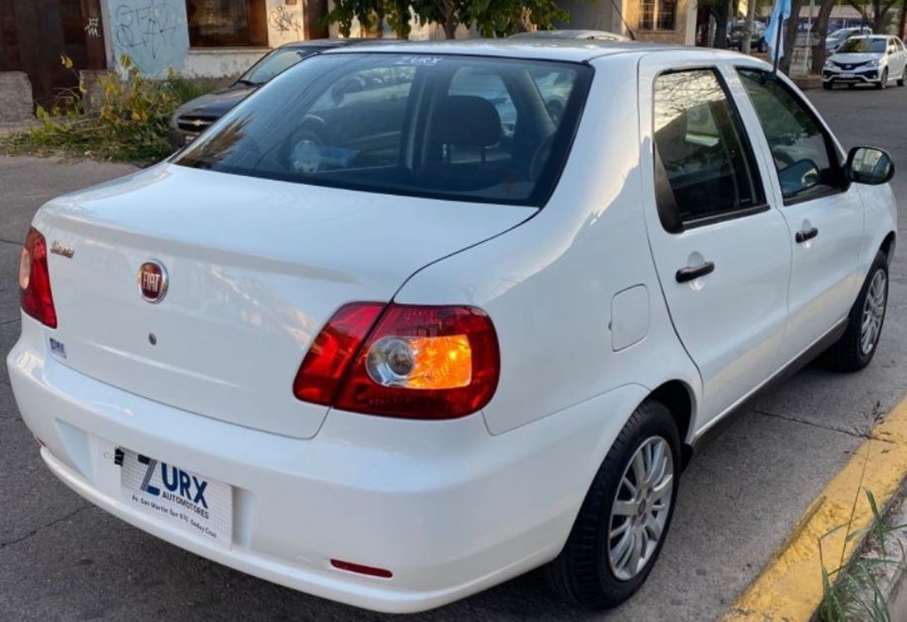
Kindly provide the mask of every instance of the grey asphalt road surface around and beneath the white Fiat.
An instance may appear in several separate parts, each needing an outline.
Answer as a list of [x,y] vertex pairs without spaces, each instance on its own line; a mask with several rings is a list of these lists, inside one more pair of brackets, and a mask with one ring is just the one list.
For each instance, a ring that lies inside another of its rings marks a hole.
[[[901,112],[907,103],[907,89],[811,95],[845,146],[882,146],[896,162],[907,162],[907,124],[891,122],[892,111]],[[63,190],[124,170],[0,158],[0,352],[9,350],[19,331],[16,258],[34,209]],[[907,206],[907,172],[894,185]],[[844,376],[811,366],[738,415],[684,474],[660,562],[627,605],[607,615],[578,612],[550,598],[529,576],[406,619],[716,618],[847,460],[873,409],[887,410],[907,390],[905,257],[902,248],[892,270],[888,322],[871,367]],[[226,569],[89,506],[44,469],[15,412],[5,373],[0,508],[0,619],[386,618]]]

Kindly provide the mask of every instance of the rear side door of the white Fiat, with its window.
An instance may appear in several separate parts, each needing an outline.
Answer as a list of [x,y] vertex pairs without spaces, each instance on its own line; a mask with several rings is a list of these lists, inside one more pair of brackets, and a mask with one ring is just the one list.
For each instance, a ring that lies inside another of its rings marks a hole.
[[[667,56],[658,54],[657,56]],[[707,424],[771,374],[790,246],[715,67],[640,63],[649,244],[675,330],[702,378]]]

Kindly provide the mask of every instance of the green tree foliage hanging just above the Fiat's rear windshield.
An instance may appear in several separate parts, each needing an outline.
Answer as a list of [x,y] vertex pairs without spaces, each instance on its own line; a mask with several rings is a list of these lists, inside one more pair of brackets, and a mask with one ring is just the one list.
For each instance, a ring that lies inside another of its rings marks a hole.
[[555,0],[335,0],[326,21],[337,24],[344,36],[354,19],[366,29],[386,21],[405,39],[414,16],[420,24],[440,25],[444,36],[453,39],[460,24],[475,24],[483,36],[505,36],[528,25],[550,28],[568,14]]

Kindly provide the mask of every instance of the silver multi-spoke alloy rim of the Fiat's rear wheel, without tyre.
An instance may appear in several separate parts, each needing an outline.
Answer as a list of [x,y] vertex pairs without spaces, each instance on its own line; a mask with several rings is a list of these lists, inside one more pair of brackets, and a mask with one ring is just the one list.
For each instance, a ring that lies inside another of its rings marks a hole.
[[674,495],[674,454],[652,436],[639,445],[624,470],[611,505],[608,561],[611,572],[629,581],[658,549]]

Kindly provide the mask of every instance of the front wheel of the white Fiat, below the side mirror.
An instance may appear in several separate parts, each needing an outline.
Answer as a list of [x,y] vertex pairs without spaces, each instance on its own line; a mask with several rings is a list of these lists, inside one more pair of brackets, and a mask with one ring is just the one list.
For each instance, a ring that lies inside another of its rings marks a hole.
[[873,360],[888,307],[888,258],[878,253],[860,296],[851,307],[847,328],[828,350],[830,363],[842,372],[857,372]]

